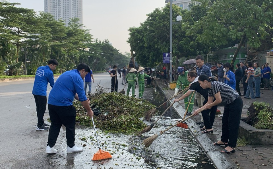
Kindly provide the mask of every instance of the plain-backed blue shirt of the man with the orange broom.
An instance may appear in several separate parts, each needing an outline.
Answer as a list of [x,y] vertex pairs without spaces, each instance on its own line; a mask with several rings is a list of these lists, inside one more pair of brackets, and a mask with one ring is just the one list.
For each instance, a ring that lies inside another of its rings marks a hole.
[[77,69],[66,71],[56,81],[49,93],[48,104],[55,106],[71,106],[78,93],[81,102],[87,100],[84,92],[84,83]]

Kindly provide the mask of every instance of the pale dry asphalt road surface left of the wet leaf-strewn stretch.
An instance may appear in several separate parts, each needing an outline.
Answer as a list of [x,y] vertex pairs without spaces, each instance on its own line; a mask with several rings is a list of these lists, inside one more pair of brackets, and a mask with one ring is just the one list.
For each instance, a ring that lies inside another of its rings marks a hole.
[[[121,79],[118,78],[119,91],[124,87],[121,85]],[[92,93],[98,84],[104,88],[111,88],[109,73],[94,74],[94,81]],[[0,83],[0,168],[11,168],[18,161],[36,158],[45,152],[48,132],[36,131],[33,83],[34,80]],[[125,91],[126,89],[127,86]],[[50,90],[51,86],[48,85],[47,95]],[[48,110],[44,116],[44,119],[47,118]],[[58,142],[60,141],[65,143],[65,137],[59,136]]]

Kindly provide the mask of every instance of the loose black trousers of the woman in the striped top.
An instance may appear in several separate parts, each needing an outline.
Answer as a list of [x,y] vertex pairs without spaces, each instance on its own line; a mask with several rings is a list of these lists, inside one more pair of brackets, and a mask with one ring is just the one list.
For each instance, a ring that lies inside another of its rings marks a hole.
[[243,100],[240,96],[224,107],[221,141],[228,142],[228,145],[233,148],[236,147],[242,109]]

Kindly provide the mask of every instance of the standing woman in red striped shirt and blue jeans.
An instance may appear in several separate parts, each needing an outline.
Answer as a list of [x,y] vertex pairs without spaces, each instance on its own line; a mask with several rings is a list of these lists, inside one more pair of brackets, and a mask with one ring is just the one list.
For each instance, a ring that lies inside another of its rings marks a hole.
[[[247,80],[245,83],[247,83],[247,92],[245,94],[244,98],[247,99],[255,99],[255,94],[253,91],[253,83],[255,82],[254,80],[254,68],[252,67],[252,62],[248,61],[247,62]],[[251,94],[251,98],[249,98],[249,94]]]

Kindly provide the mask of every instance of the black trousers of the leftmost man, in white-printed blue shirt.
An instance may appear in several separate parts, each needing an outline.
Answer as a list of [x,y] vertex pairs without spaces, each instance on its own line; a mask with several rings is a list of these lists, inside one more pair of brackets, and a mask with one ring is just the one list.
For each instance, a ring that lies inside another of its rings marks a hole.
[[46,96],[40,96],[33,94],[36,104],[36,112],[37,112],[37,118],[38,123],[37,127],[40,127],[44,124],[44,115],[46,112]]

